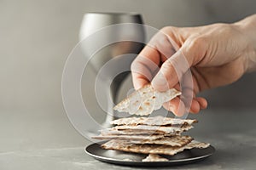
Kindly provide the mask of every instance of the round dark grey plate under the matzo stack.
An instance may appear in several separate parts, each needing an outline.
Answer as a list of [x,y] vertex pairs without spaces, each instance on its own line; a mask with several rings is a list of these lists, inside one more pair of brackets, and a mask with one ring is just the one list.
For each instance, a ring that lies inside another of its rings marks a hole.
[[183,152],[177,153],[175,156],[160,155],[166,157],[169,161],[142,161],[148,155],[118,150],[104,150],[101,147],[103,143],[104,142],[90,144],[85,148],[85,152],[100,161],[137,167],[163,167],[193,163],[195,161],[201,161],[208,156],[212,156],[215,151],[214,147],[210,145],[206,149],[194,148],[192,150],[184,150]]

